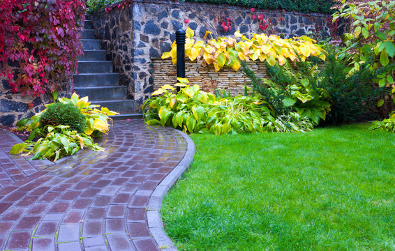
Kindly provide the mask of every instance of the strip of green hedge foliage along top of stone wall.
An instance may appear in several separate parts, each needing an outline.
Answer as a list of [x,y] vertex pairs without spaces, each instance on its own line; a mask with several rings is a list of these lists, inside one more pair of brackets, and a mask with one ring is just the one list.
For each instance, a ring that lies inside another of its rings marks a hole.
[[333,13],[331,0],[186,0],[189,2],[230,4],[272,10],[295,10],[303,13]]

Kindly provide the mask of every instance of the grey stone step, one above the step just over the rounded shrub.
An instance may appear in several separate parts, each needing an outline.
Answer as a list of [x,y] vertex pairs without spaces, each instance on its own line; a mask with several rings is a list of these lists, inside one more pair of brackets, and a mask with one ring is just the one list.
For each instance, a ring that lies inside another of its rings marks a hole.
[[80,73],[73,75],[76,87],[89,86],[117,86],[119,82],[118,73]]

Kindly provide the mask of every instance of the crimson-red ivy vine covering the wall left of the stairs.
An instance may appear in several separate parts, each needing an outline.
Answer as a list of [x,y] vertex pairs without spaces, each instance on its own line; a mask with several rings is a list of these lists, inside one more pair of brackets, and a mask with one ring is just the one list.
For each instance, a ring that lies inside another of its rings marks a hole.
[[83,0],[0,1],[0,76],[15,93],[53,92],[75,73],[85,12]]

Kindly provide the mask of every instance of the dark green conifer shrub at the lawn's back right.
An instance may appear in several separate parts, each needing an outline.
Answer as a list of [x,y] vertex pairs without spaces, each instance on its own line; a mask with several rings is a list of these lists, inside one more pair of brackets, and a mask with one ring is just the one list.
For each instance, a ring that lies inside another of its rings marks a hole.
[[345,62],[337,58],[334,50],[328,50],[325,68],[319,76],[310,78],[314,91],[331,105],[325,123],[355,121],[359,114],[366,112],[381,91],[373,85],[374,76],[370,61],[361,63],[359,70],[348,74]]

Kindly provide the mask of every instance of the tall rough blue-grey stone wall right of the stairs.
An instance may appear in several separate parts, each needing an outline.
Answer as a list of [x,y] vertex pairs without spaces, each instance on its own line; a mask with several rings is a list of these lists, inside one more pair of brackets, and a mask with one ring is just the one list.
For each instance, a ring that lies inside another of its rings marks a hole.
[[[245,34],[260,33],[260,23],[257,19],[251,19],[252,14],[249,8],[239,6],[134,0],[126,8],[117,8],[116,4],[110,10],[92,14],[90,18],[98,39],[103,41],[103,47],[113,61],[114,70],[120,73],[120,84],[128,86],[131,98],[141,105],[154,91],[154,86],[161,85],[163,81],[161,75],[156,75],[154,71],[153,59],[170,51],[175,31],[189,26],[195,31],[196,40],[203,40],[207,30],[213,31],[217,36],[233,36],[237,30]],[[283,34],[284,38],[301,36],[319,29],[322,30],[322,36],[329,36],[330,33],[330,15],[259,9],[255,10],[255,14],[263,14],[265,20],[270,17],[273,26],[266,33]],[[228,32],[221,28],[223,17],[233,19],[232,29]],[[281,18],[283,22],[280,22]],[[186,19],[189,20],[188,24],[184,22]],[[340,24],[338,32],[342,32],[344,26],[345,24]],[[168,68],[165,65],[166,63],[163,67]],[[232,70],[225,72],[232,73]],[[174,82],[175,79],[174,75]],[[218,85],[221,86],[220,81]]]

